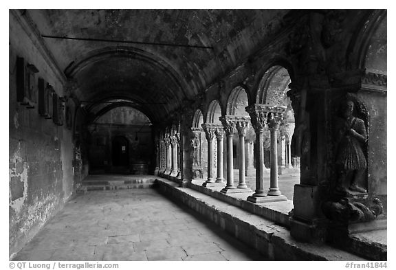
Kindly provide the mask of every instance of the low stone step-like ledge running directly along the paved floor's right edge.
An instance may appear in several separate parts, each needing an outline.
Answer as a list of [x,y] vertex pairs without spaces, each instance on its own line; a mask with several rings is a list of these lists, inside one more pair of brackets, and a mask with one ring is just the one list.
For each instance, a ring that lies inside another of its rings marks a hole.
[[273,221],[268,221],[197,190],[179,188],[167,179],[157,178],[157,187],[168,198],[183,203],[202,214],[270,260],[364,260],[327,245],[300,243],[290,236],[288,229],[276,225]]

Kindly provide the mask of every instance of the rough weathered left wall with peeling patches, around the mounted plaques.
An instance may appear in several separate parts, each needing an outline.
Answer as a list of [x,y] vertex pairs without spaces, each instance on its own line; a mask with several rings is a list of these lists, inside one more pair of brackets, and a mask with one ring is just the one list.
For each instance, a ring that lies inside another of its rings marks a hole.
[[17,56],[39,69],[39,77],[63,96],[62,82],[31,38],[10,14],[9,252],[39,231],[73,192],[72,133],[17,102]]

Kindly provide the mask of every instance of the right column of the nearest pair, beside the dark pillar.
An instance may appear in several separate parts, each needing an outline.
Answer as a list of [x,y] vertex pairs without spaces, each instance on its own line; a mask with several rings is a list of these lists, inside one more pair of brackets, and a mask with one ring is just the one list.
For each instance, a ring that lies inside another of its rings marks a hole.
[[[282,113],[270,113],[268,126],[271,133],[271,169],[270,169],[270,190],[268,195],[281,196],[281,190],[278,188],[278,141],[276,132],[283,117]],[[286,198],[285,198],[286,199]]]

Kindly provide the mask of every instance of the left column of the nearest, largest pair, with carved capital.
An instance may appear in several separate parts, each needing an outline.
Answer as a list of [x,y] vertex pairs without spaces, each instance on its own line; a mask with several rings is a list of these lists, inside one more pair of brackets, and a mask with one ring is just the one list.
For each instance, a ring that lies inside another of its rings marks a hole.
[[267,124],[267,113],[263,111],[261,104],[254,104],[246,107],[250,115],[250,121],[256,133],[256,191],[252,196],[248,196],[248,201],[260,203],[267,196],[264,192],[264,150],[263,133]]

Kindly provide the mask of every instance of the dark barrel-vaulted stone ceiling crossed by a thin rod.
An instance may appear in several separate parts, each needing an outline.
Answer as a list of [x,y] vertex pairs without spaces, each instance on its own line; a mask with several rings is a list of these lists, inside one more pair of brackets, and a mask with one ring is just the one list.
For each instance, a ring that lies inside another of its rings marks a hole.
[[288,10],[26,12],[41,35],[91,39],[44,38],[79,100],[129,100],[159,121],[259,49]]

